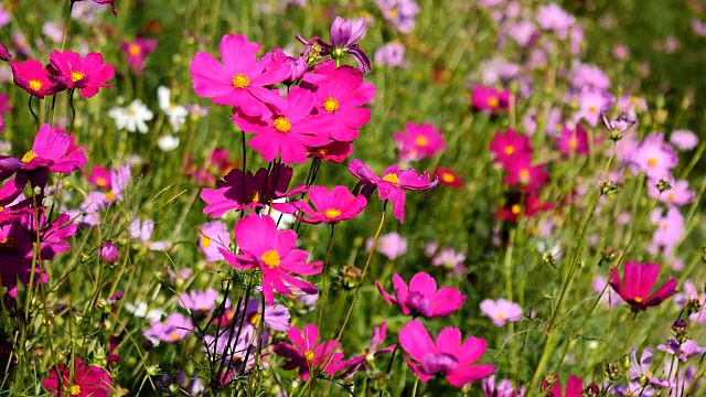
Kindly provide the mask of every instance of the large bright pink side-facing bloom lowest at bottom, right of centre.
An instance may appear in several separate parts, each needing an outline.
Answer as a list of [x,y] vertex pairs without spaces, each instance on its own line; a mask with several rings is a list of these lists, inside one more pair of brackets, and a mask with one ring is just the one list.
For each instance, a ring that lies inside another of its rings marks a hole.
[[427,383],[435,375],[445,375],[454,387],[463,387],[495,372],[491,364],[475,364],[485,353],[485,340],[469,336],[461,342],[461,331],[447,326],[436,342],[419,320],[399,330],[399,344],[409,355],[405,357],[411,371]]

